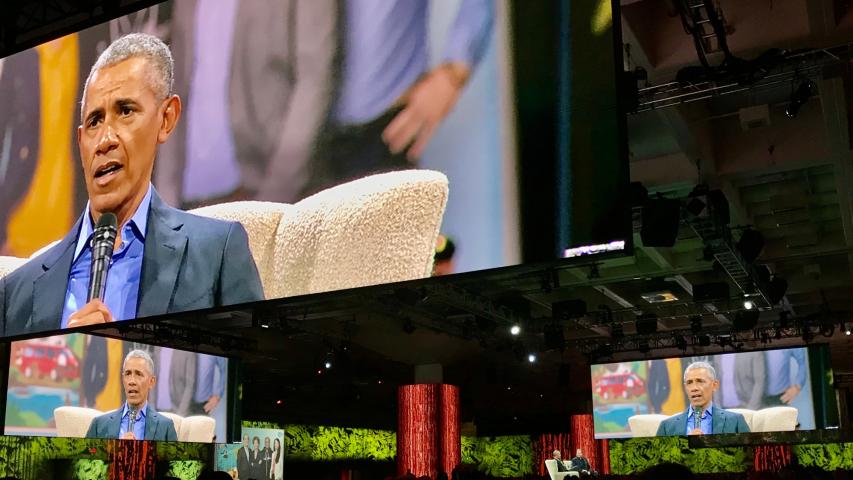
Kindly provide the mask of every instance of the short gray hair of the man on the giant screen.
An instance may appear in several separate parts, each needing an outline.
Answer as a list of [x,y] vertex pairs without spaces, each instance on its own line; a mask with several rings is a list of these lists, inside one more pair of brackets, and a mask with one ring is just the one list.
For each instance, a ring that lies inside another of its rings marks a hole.
[[99,70],[111,67],[130,58],[141,57],[148,60],[148,84],[159,100],[166,99],[172,94],[175,80],[175,61],[172,52],[162,40],[147,33],[131,33],[114,41],[101,53],[98,60],[89,70],[86,83],[83,85],[83,98],[80,100],[80,114],[86,102],[89,82]]

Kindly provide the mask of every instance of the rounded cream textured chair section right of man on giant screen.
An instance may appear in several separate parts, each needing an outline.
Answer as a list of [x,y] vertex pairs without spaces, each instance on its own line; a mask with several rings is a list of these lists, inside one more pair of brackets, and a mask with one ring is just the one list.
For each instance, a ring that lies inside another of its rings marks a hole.
[[424,278],[447,204],[431,170],[370,175],[293,205],[277,232],[280,290],[293,296]]

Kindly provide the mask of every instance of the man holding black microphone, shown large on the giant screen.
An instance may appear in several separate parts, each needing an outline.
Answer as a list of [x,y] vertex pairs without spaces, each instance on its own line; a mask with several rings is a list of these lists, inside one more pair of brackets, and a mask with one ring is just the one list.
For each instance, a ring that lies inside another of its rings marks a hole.
[[[146,34],[119,38],[92,67],[77,128],[89,202],[65,238],[0,279],[5,335],[263,300],[243,227],[174,209],[151,185],[181,117],[173,71],[169,48]],[[93,246],[108,212],[111,256]]]

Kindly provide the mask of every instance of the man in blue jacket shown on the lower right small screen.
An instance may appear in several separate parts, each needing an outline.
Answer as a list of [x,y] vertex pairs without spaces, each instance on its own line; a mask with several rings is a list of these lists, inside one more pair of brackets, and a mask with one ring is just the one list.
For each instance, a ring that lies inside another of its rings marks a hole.
[[684,370],[684,391],[690,401],[687,411],[662,421],[658,436],[708,435],[710,433],[749,432],[743,415],[713,405],[714,392],[720,387],[714,367],[694,362]]

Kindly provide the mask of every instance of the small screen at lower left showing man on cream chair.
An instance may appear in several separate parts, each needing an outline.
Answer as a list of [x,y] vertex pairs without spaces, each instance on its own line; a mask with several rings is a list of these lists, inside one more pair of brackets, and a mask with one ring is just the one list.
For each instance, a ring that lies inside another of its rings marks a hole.
[[4,433],[223,441],[228,367],[225,357],[95,335],[12,342]]

